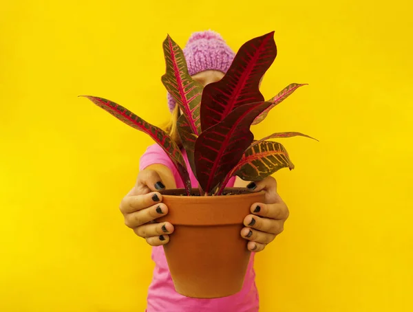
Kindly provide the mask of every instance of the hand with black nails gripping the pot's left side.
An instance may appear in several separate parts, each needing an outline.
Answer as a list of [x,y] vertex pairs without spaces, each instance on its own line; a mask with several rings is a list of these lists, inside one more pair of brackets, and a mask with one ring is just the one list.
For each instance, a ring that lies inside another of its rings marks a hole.
[[136,185],[120,203],[120,212],[125,218],[125,225],[135,234],[145,238],[151,246],[165,245],[173,225],[169,222],[156,223],[155,219],[165,216],[168,208],[162,203],[162,195],[157,190],[165,189],[160,175],[155,170],[145,169],[139,172]]

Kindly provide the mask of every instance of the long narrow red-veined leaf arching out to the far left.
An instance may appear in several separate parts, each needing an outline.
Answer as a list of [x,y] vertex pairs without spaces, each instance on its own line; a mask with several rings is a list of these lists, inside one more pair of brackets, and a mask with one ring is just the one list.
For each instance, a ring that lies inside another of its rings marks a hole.
[[115,102],[106,100],[104,98],[98,98],[96,96],[84,96],[88,98],[94,104],[96,104],[101,109],[104,109],[108,113],[114,115],[118,120],[125,122],[125,124],[131,126],[134,129],[147,133],[156,143],[159,144],[163,148],[163,150],[167,153],[173,165],[178,170],[182,181],[184,182],[185,189],[189,194],[191,190],[191,180],[189,179],[189,174],[187,167],[185,166],[184,158],[182,157],[182,153],[178,144],[176,144],[169,135],[163,131],[162,129],[158,128],[157,126],[153,126],[149,124],[149,122],[145,122],[142,118],[138,117],[131,111],[125,109],[125,107],[121,107],[119,104]]

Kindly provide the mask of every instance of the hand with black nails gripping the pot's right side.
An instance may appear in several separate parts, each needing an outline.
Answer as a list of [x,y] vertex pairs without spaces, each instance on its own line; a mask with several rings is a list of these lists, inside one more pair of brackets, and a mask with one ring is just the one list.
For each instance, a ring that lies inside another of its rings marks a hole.
[[251,182],[247,188],[252,192],[265,192],[265,203],[254,203],[251,206],[252,214],[245,217],[246,227],[241,231],[241,236],[249,241],[248,249],[251,252],[261,252],[284,230],[289,215],[288,207],[277,193],[277,181],[273,177]]

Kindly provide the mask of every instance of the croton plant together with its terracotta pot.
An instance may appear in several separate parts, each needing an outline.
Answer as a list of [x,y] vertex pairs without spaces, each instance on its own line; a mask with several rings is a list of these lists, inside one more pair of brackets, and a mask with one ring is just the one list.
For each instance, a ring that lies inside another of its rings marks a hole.
[[[86,96],[105,111],[158,143],[173,161],[184,189],[165,190],[167,216],[175,226],[164,246],[176,291],[194,298],[230,296],[242,288],[251,252],[240,236],[244,217],[264,192],[226,188],[231,177],[260,181],[280,168],[294,168],[277,137],[303,135],[273,133],[254,140],[251,125],[258,124],[273,107],[302,84],[293,83],[265,101],[259,86],[277,55],[274,32],[242,45],[222,80],[206,87],[189,76],[182,49],[168,35],[163,43],[166,74],[162,82],[175,98],[182,115],[178,132],[191,168],[185,166],[180,147],[165,131],[149,124],[110,100]],[[199,182],[192,188],[188,170]]]

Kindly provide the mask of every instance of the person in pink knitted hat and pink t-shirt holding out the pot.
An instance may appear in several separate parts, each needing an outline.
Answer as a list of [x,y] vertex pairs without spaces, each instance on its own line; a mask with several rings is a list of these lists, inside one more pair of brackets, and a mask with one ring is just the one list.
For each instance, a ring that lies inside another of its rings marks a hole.
[[[220,80],[229,69],[235,56],[222,37],[216,32],[196,32],[189,38],[184,48],[189,74],[202,85]],[[180,109],[168,94],[168,106],[171,122],[167,132],[180,144],[176,122]],[[198,187],[187,155],[182,151],[189,168],[191,183]],[[246,186],[251,192],[266,192],[265,203],[251,206],[251,214],[245,216],[245,227],[240,235],[248,241],[248,249],[253,252],[246,271],[242,290],[233,296],[216,299],[187,298],[175,291],[167,260],[162,248],[173,237],[171,223],[156,223],[155,219],[168,213],[162,203],[162,195],[157,192],[164,188],[183,188],[182,181],[165,151],[157,144],[147,148],[140,158],[140,172],[135,186],[120,204],[120,211],[125,217],[125,224],[135,234],[145,238],[152,247],[152,260],[155,262],[153,279],[148,291],[147,312],[255,312],[259,309],[255,271],[253,269],[254,253],[261,252],[268,243],[281,233],[288,218],[288,208],[277,193],[277,182],[268,177],[257,183],[245,183],[238,177],[231,179],[229,187]]]

